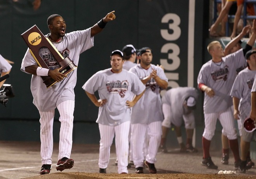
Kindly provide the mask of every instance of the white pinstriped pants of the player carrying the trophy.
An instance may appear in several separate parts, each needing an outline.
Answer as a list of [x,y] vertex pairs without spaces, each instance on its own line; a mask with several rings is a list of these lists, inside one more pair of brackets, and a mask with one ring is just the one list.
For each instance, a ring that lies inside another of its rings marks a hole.
[[[64,101],[57,106],[57,109],[59,110],[59,121],[61,122],[59,160],[63,157],[70,158],[71,155],[74,101]],[[54,112],[55,110],[49,110],[47,112],[39,111],[42,164],[52,164]]]

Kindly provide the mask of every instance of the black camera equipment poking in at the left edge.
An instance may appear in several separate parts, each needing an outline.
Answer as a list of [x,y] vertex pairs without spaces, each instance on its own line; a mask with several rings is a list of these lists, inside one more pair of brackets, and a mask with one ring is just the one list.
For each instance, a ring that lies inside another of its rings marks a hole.
[[[10,75],[6,74],[2,77],[0,77],[0,82],[7,79]],[[8,102],[8,98],[13,98],[14,90],[12,88],[12,85],[10,84],[3,84],[3,90],[0,91],[0,103],[2,103],[6,107],[6,103]]]

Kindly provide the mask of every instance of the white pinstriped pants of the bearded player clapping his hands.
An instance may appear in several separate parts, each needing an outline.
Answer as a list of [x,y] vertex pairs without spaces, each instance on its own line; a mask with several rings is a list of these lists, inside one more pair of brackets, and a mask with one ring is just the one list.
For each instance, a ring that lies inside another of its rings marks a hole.
[[149,124],[131,124],[131,141],[133,143],[133,162],[135,167],[143,167],[146,129],[149,135],[149,146],[145,160],[151,164],[156,163],[156,154],[160,145],[162,135],[162,122],[151,122]]

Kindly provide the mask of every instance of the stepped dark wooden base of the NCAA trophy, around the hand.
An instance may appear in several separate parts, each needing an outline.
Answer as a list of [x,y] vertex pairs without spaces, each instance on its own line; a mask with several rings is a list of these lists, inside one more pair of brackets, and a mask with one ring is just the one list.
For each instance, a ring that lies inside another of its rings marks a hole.
[[[62,68],[59,70],[60,73],[67,75],[71,71],[77,68],[77,66],[74,64],[72,60],[69,59],[69,57],[66,57],[63,59],[59,64],[62,66]],[[50,76],[42,76],[43,83],[46,85],[46,88],[49,88],[53,84],[55,84],[57,81],[52,79]]]

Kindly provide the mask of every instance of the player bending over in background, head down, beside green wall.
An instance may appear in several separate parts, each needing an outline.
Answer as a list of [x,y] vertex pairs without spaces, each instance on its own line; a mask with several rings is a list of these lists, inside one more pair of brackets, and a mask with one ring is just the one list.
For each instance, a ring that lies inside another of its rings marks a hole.
[[[198,96],[198,91],[193,87],[177,87],[166,91],[162,97],[164,121],[162,123],[163,135],[160,148],[163,152],[167,152],[166,137],[171,124],[175,127],[180,151],[197,152],[197,149],[192,146],[192,137],[195,128],[195,116],[193,110],[196,107]],[[183,144],[180,129],[182,120],[184,120],[187,133],[186,146]]]

